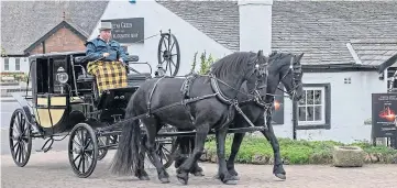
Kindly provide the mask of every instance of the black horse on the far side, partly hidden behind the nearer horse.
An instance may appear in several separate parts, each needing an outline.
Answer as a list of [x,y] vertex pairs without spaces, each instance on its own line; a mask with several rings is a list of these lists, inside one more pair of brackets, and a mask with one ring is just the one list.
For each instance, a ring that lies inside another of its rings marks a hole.
[[[287,92],[293,100],[300,100],[304,93],[302,90],[302,70],[300,59],[304,54],[293,55],[286,53],[274,52],[269,56],[268,76],[267,79],[267,96],[263,102],[255,102],[252,98],[243,95],[238,95],[238,100],[241,102],[241,109],[244,114],[254,123],[255,126],[266,126],[265,131],[262,131],[263,135],[271,142],[274,151],[274,168],[273,173],[280,179],[286,179],[286,172],[283,167],[283,162],[279,153],[279,145],[277,137],[274,134],[272,122],[272,107],[274,103],[274,96],[279,86],[283,82]],[[245,92],[246,86],[243,84],[241,90]],[[265,121],[266,115],[266,121]],[[266,123],[266,124],[265,124]],[[234,117],[233,123],[230,128],[245,128],[250,124],[244,120],[241,114]],[[179,130],[180,131],[180,130]],[[227,162],[229,174],[238,176],[234,169],[234,159],[239,152],[241,142],[243,141],[244,133],[234,133],[233,143],[231,146],[231,154]],[[186,158],[184,156],[191,152],[194,137],[178,137],[176,140],[177,151],[175,153],[175,167],[178,167]],[[220,159],[220,158],[219,158]],[[198,164],[194,164],[194,168],[190,170],[196,176],[203,176],[202,168]],[[219,175],[218,175],[219,176]]]

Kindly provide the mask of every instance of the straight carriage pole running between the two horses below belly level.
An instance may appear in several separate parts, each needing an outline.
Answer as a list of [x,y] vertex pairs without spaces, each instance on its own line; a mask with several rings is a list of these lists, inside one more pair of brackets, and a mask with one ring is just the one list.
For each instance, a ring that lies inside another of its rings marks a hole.
[[[264,131],[264,126],[250,126],[250,128],[236,128],[229,129],[228,133],[245,133],[245,132],[255,132],[255,131]],[[216,134],[213,130],[211,130],[208,134]],[[164,132],[158,133],[157,137],[161,136],[195,136],[196,131],[183,131],[183,132]]]

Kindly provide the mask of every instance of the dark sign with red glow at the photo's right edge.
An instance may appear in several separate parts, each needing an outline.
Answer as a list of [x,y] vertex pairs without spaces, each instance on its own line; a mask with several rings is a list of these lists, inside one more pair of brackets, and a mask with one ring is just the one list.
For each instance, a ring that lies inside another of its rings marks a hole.
[[397,93],[372,93],[374,137],[396,136]]

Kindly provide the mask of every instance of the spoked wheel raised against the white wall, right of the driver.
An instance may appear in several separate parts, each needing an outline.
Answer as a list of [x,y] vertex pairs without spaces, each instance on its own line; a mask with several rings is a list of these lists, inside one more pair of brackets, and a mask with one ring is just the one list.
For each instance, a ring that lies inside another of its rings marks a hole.
[[165,76],[176,76],[180,65],[180,51],[174,34],[162,33],[157,53],[158,65],[165,70]]

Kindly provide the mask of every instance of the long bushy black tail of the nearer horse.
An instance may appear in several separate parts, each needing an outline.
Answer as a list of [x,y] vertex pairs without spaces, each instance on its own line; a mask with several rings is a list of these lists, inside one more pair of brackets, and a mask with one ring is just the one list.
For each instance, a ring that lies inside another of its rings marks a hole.
[[[135,117],[133,109],[126,109],[125,119]],[[131,114],[131,115],[129,115]],[[136,172],[141,141],[140,121],[125,122],[121,132],[120,142],[111,164],[111,173],[131,175]]]

